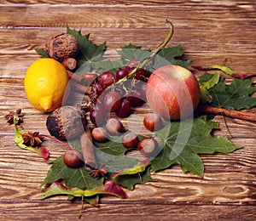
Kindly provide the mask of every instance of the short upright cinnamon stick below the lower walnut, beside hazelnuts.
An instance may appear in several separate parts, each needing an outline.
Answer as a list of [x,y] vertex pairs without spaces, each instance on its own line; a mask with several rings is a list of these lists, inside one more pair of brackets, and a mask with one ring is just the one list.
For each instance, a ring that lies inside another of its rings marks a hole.
[[84,164],[87,167],[96,168],[97,167],[96,157],[95,157],[91,132],[89,128],[85,129],[84,133],[82,133],[82,135],[80,136],[80,142],[81,142],[82,152],[84,155]]

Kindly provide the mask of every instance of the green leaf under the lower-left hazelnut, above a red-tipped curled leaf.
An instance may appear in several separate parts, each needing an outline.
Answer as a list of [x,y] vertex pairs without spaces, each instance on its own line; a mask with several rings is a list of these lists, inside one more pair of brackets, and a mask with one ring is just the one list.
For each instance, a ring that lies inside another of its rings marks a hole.
[[56,181],[64,180],[67,187],[90,190],[103,184],[103,178],[92,178],[89,175],[90,169],[83,166],[79,168],[67,167],[63,156],[59,156],[52,162],[44,184],[53,184]]

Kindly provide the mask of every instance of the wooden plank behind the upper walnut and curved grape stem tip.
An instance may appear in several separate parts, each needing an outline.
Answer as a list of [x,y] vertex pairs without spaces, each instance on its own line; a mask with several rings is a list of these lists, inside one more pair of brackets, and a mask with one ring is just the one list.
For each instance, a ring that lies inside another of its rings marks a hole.
[[[192,24],[192,23],[190,23]],[[224,25],[230,25],[225,22]],[[79,28],[73,28],[79,31]],[[60,29],[33,29],[33,30],[0,30],[0,40],[3,44],[0,46],[1,54],[15,54],[15,53],[32,53],[36,48],[44,48],[45,43],[52,35],[65,32],[66,28]],[[195,31],[195,26],[186,28],[189,36],[184,36],[183,27],[174,23],[174,35],[170,44],[181,44],[184,48],[188,48],[191,53],[201,54],[241,54],[246,52],[252,53],[255,51],[255,33],[252,28],[243,30],[241,40],[237,41],[236,35],[239,31],[224,32],[224,28],[212,29],[207,32]],[[130,42],[136,45],[141,45],[143,48],[156,48],[160,42],[164,40],[168,32],[168,28],[164,21],[161,22],[161,28],[155,31],[154,26],[140,29],[113,29],[102,28],[96,29],[93,27],[84,27],[81,30],[82,34],[90,33],[90,41],[101,44],[107,43],[108,49],[119,49]],[[221,33],[219,33],[221,32]],[[145,38],[145,35],[148,36]],[[218,36],[216,39],[215,36]],[[114,36],[114,37],[113,37]],[[134,37],[136,36],[136,37]],[[244,36],[244,37],[243,37]],[[197,48],[196,48],[197,46]],[[200,48],[200,51],[199,51]],[[239,50],[235,50],[238,48]],[[17,50],[19,49],[19,51]]]

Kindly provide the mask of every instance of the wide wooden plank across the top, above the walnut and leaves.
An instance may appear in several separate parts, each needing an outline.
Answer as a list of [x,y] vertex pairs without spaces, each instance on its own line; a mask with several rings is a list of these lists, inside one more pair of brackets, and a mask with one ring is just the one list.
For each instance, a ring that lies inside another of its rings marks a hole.
[[[9,6],[3,5],[0,14],[2,27],[21,27],[21,26],[91,26],[96,28],[101,27],[123,27],[123,28],[141,28],[143,26],[154,26],[154,28],[161,28],[164,20],[169,19],[174,23],[186,27],[187,18],[189,22],[197,22],[198,30],[203,31],[208,28],[218,28],[222,21],[229,20],[236,22],[236,25],[243,26],[246,29],[248,20],[254,20],[254,4],[248,3],[247,7],[240,7],[238,5],[225,5],[218,7],[218,5],[201,5],[194,3],[189,7],[183,7],[179,3],[157,5],[155,7],[144,7],[144,5],[118,5],[119,7],[108,5],[26,5],[17,4]],[[40,7],[38,7],[40,6]],[[111,10],[106,10],[106,8]],[[193,11],[191,10],[193,8]],[[217,9],[218,8],[218,9]],[[160,10],[160,14],[156,14],[156,10]],[[203,9],[203,11],[202,11]],[[15,12],[19,12],[19,20],[14,20]],[[181,13],[182,12],[182,13]],[[55,16],[55,14],[58,14]],[[75,14],[75,16],[73,16]],[[93,14],[93,16],[91,16]],[[184,17],[183,14],[186,14]],[[189,16],[194,14],[194,16]],[[195,16],[195,14],[197,16]],[[222,16],[219,17],[219,14]],[[232,19],[230,20],[230,14]],[[216,20],[218,23],[212,23],[211,20]],[[230,24],[230,27],[232,25]]]

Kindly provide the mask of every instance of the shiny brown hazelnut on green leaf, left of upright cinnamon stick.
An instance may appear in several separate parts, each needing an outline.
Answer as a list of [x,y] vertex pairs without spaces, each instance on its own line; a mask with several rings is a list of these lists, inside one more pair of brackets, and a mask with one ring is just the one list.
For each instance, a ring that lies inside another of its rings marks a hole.
[[63,161],[67,167],[81,167],[84,164],[84,157],[79,150],[67,150],[63,156]]

